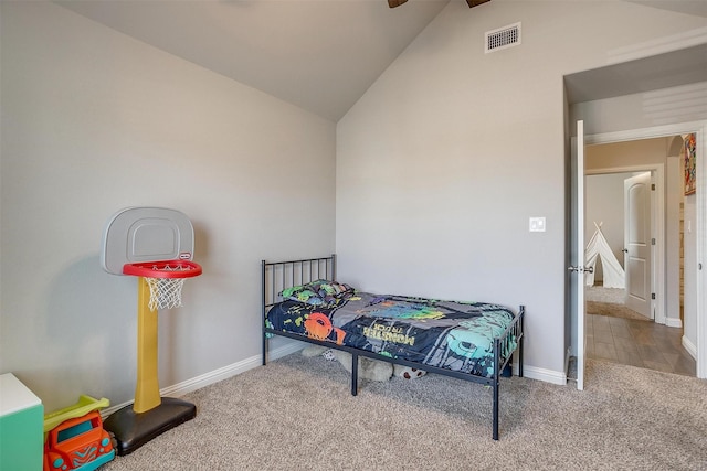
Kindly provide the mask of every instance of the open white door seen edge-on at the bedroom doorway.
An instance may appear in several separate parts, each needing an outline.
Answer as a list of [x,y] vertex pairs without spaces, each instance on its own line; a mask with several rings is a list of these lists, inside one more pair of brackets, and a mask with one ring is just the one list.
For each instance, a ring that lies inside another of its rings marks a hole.
[[570,247],[570,309],[574,312],[577,342],[577,388],[584,389],[584,121],[577,121],[577,140],[572,143],[571,247]]

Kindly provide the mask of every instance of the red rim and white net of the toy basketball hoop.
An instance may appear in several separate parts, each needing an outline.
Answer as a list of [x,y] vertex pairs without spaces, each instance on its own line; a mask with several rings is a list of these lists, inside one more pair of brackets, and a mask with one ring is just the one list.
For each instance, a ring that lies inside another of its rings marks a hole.
[[181,289],[187,278],[201,275],[201,266],[189,260],[161,260],[125,264],[124,275],[145,278],[150,287],[150,311],[180,308]]

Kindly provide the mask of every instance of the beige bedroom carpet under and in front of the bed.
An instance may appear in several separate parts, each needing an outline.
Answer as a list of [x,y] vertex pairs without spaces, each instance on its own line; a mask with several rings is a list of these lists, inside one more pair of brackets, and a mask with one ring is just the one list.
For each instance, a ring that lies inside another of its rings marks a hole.
[[707,469],[707,382],[588,361],[585,386],[504,378],[493,441],[487,387],[426,375],[354,397],[338,363],[293,354],[189,394],[193,420],[103,469]]

